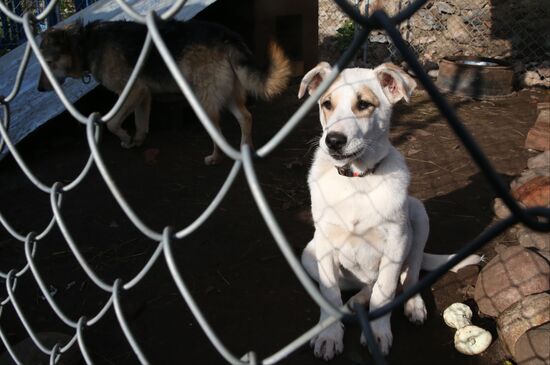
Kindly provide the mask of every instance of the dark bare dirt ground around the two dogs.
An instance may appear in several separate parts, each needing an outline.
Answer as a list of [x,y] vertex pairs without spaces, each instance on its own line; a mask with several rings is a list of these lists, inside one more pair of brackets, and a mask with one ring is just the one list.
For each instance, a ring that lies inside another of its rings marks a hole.
[[[257,146],[266,143],[298,108],[297,87],[295,80],[280,98],[250,103]],[[499,101],[450,100],[508,180],[526,167],[531,156],[523,143],[535,121],[536,103],[545,98],[548,100],[548,93],[522,91]],[[105,111],[113,101],[112,94],[98,89],[78,107],[85,112]],[[223,128],[229,140],[238,143],[236,122],[226,116]],[[256,163],[261,187],[296,254],[313,233],[306,176],[319,133],[317,112],[313,111],[267,159]],[[425,202],[430,215],[427,251],[453,252],[491,223],[494,193],[425,93],[418,92],[411,104],[397,108],[392,140],[412,171],[411,193]],[[232,166],[229,160],[216,167],[203,165],[211,142],[182,103],[154,104],[145,146],[122,149],[107,132],[100,148],[125,197],[156,230],[167,225],[181,228],[192,222],[215,196]],[[47,184],[70,181],[89,155],[84,128],[67,114],[34,133],[19,149]],[[52,215],[49,197],[27,181],[11,158],[0,163],[0,176],[2,213],[19,232],[41,231]],[[95,168],[78,188],[66,194],[62,211],[86,259],[106,281],[133,277],[156,247],[125,217]],[[506,239],[498,240],[505,243]],[[196,301],[233,353],[253,350],[259,357],[268,356],[316,324],[318,308],[278,250],[242,173],[213,217],[173,247]],[[484,251],[492,254],[490,248]],[[93,316],[108,299],[86,277],[57,228],[38,244],[36,257],[44,280],[57,290],[55,299],[72,318],[83,313]],[[0,229],[0,270],[6,272],[24,263],[23,246]],[[0,289],[0,298],[5,296],[5,289]],[[41,299],[29,273],[18,283],[16,296],[37,332],[72,334]],[[498,343],[477,357],[457,353],[454,330],[443,323],[432,293],[428,290],[423,296],[429,307],[423,326],[413,326],[400,311],[394,312],[390,364],[502,362]],[[193,319],[162,258],[135,289],[124,293],[122,306],[153,364],[224,363]],[[28,336],[11,305],[4,308],[0,325],[10,343]],[[345,352],[332,364],[373,363],[359,344],[359,335],[357,324],[347,325]],[[112,310],[86,330],[85,339],[96,364],[138,362]],[[3,351],[0,345],[0,353]],[[282,362],[322,363],[307,346]]]

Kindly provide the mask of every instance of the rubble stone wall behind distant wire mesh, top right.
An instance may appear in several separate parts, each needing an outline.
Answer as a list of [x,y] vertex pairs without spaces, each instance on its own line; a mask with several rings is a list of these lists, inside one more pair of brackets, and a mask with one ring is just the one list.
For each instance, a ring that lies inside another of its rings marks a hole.
[[[356,0],[355,4],[364,13],[383,7],[393,15],[410,3],[409,0]],[[550,6],[544,1],[430,0],[400,24],[399,30],[426,71],[437,70],[443,57],[491,57],[512,63],[521,86],[550,87],[550,27],[547,24],[550,24]],[[352,27],[349,17],[335,8],[332,1],[320,0],[321,57],[335,60],[338,50],[349,44]],[[369,66],[403,61],[383,30],[373,31],[364,48],[360,59]]]

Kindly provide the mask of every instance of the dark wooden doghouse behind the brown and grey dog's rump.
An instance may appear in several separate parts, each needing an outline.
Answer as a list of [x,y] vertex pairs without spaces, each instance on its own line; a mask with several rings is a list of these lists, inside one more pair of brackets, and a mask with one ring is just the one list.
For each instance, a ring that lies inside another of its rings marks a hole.
[[317,0],[218,0],[197,15],[241,34],[259,62],[265,62],[270,40],[292,61],[293,74],[317,64]]

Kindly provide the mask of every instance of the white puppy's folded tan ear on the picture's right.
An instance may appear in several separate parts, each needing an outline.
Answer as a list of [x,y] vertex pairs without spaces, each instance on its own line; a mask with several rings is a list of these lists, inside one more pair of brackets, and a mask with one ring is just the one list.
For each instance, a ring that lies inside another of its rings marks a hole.
[[416,81],[409,74],[392,63],[384,63],[375,68],[374,72],[390,103],[395,104],[401,99],[407,103],[410,101]]

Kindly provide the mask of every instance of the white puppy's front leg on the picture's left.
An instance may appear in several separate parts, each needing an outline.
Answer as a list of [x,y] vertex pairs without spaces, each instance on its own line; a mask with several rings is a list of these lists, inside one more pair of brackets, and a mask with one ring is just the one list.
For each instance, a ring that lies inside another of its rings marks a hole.
[[[335,249],[328,237],[319,229],[315,231],[315,256],[319,269],[319,289],[321,294],[335,307],[342,306],[342,297],[338,286],[338,263]],[[330,315],[321,308],[319,322],[329,318]],[[325,360],[332,359],[344,350],[344,325],[338,321],[311,340],[311,346],[317,357]]]

